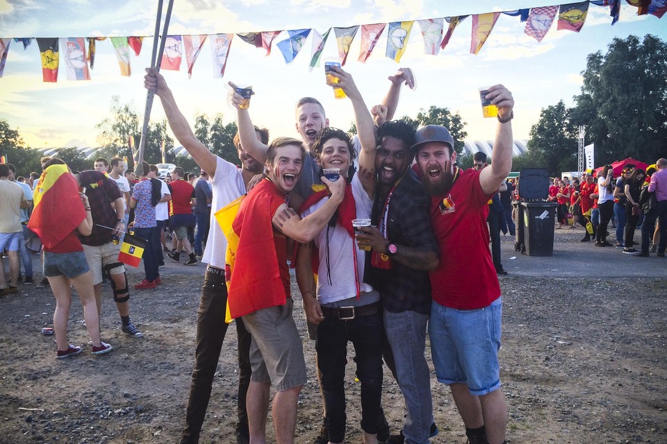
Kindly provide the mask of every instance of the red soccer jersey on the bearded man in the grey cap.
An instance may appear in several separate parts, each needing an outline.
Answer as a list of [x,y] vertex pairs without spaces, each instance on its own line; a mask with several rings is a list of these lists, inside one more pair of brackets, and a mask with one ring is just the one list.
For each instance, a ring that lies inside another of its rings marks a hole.
[[459,170],[446,196],[431,197],[431,226],[440,249],[440,264],[430,273],[431,295],[456,309],[488,307],[500,296],[500,284],[488,249],[488,199],[479,171]]

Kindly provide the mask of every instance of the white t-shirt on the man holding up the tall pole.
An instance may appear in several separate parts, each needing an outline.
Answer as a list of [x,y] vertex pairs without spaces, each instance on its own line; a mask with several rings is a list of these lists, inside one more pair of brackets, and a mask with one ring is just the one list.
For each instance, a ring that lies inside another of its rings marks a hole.
[[[217,157],[217,156],[216,156]],[[226,207],[233,200],[246,193],[241,170],[236,165],[217,157],[213,184],[213,201],[211,203],[211,228],[208,230],[208,242],[204,249],[201,262],[216,268],[224,269],[224,253],[227,250],[227,238],[215,220],[215,212]]]

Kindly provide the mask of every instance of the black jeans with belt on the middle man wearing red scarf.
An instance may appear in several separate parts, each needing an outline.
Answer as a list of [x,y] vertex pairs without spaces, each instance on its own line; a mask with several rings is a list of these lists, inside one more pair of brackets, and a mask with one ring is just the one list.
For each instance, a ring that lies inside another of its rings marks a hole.
[[347,343],[354,345],[356,377],[361,382],[361,429],[375,434],[382,422],[382,348],[384,324],[382,311],[349,321],[328,316],[318,325],[318,368],[322,373],[322,393],[327,409],[329,441],[345,439],[345,365]]

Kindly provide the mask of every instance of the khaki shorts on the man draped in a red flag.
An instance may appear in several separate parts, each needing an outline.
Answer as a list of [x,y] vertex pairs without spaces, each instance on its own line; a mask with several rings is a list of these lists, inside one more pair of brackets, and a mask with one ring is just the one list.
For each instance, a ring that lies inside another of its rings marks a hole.
[[304,347],[292,317],[293,301],[243,316],[252,334],[250,364],[254,382],[270,382],[277,391],[306,384]]

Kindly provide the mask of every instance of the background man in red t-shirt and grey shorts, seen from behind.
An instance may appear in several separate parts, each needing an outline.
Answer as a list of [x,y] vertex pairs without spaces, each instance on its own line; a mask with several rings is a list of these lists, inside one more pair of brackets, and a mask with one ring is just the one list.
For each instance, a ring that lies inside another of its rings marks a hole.
[[[192,187],[189,182],[183,180],[185,175],[186,173],[181,167],[174,168],[172,181],[167,185],[172,193],[169,227],[174,230],[179,244],[182,243],[186,254],[190,256],[184,265],[195,265],[197,264],[197,257],[195,257],[192,245],[190,245],[190,239],[188,239],[188,227],[194,227],[196,224],[195,214],[192,213],[192,205],[197,203],[197,199],[195,198],[195,187]],[[176,251],[167,253],[167,256],[179,262],[181,259],[180,251],[179,246],[177,246]]]

